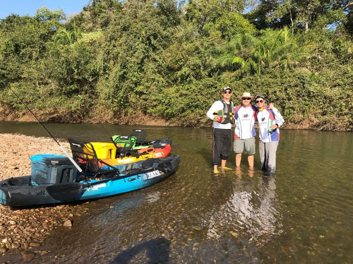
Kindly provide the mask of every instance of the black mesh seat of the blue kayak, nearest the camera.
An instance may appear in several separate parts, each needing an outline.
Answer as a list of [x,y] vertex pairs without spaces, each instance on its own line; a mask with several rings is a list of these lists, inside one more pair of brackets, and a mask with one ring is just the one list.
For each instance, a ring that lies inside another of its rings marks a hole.
[[[94,175],[95,178],[109,178],[119,174],[119,170],[101,159],[90,142],[79,142],[68,138],[73,159],[79,164],[80,168],[87,174]],[[108,166],[102,169],[100,164]]]

